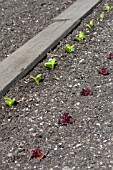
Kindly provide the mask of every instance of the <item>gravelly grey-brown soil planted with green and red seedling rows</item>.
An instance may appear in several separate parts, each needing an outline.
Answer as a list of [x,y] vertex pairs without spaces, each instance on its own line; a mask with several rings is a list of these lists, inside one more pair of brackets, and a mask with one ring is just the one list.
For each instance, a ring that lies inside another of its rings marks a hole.
[[[16,97],[16,106],[8,108],[1,99],[1,170],[113,169],[113,59],[107,58],[113,53],[113,10],[105,12],[105,3],[10,89],[6,96]],[[113,6],[112,0],[107,3]],[[105,19],[97,21],[102,11]],[[85,25],[92,18],[95,27],[89,30]],[[82,43],[73,40],[79,31],[85,33]],[[65,52],[66,43],[76,44],[73,53]],[[44,67],[51,56],[57,60],[54,70]],[[110,74],[99,74],[103,67]],[[43,81],[37,86],[30,75],[39,73]],[[82,96],[87,87],[93,94]],[[64,112],[76,121],[59,126]],[[37,146],[46,157],[29,161],[29,150]]]

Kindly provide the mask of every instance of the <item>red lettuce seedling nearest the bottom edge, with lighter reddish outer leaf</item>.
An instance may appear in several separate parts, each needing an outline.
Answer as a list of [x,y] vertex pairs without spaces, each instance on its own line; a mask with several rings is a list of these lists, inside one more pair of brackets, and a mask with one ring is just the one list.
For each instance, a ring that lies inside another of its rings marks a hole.
[[30,150],[30,159],[36,158],[38,161],[40,161],[45,156],[44,152],[38,148],[33,148]]

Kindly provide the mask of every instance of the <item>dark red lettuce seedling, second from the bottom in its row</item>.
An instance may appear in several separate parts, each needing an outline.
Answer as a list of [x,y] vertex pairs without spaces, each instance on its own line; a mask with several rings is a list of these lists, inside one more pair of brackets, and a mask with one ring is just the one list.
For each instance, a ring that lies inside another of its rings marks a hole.
[[68,124],[74,123],[75,120],[76,119],[72,118],[72,116],[70,116],[69,113],[64,113],[62,116],[60,116],[58,124],[67,126]]

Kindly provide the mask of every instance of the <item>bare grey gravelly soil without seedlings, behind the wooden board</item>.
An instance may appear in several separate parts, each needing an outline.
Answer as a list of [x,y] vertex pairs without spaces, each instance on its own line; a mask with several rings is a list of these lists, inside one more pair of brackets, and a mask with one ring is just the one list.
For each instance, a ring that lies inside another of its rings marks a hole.
[[76,0],[0,0],[0,61]]

